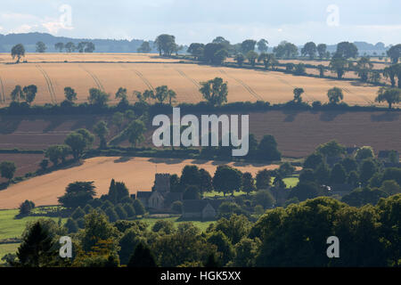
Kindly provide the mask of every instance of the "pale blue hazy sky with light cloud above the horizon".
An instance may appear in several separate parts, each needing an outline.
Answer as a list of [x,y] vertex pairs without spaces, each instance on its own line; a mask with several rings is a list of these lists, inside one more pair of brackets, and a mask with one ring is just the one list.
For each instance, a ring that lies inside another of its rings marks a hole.
[[401,42],[399,0],[12,0],[1,4],[0,34],[47,32],[78,38],[154,40],[180,45],[265,38],[308,41]]

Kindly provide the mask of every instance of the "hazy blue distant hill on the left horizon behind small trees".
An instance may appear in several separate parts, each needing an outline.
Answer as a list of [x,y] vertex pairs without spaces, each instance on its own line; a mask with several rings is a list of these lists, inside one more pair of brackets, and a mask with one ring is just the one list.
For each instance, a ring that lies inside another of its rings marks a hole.
[[[13,45],[22,44],[28,53],[36,52],[37,42],[44,42],[47,46],[46,53],[54,53],[54,45],[56,43],[72,42],[78,45],[79,42],[91,41],[96,49],[95,53],[136,53],[136,49],[142,45],[143,40],[133,39],[115,40],[115,39],[87,39],[87,38],[70,38],[70,37],[55,37],[46,33],[27,33],[27,34],[0,34],[0,53],[9,53]],[[150,42],[153,47],[153,42]],[[153,50],[152,52],[156,52]]]

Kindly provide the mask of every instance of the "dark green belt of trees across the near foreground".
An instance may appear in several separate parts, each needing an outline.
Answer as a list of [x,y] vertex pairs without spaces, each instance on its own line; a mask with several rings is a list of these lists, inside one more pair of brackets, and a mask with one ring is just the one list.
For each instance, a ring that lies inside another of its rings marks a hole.
[[[66,226],[40,219],[28,224],[16,255],[7,256],[7,264],[397,266],[399,215],[394,209],[400,203],[401,194],[363,208],[351,208],[326,197],[308,199],[287,208],[269,209],[256,223],[233,214],[210,224],[205,232],[189,222],[161,221],[151,228],[140,220],[111,223],[102,211],[94,210],[83,216],[84,225],[78,233],[69,233],[73,243],[71,259],[61,258],[57,246],[67,233]],[[331,235],[340,239],[341,258],[326,256],[326,239]]]

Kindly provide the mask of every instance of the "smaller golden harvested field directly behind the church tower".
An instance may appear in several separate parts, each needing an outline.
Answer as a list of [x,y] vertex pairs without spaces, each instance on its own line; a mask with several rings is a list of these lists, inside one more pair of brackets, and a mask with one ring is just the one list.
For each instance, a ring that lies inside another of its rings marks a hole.
[[[224,161],[192,159],[149,159],[101,157],[86,159],[81,166],[59,170],[17,183],[0,191],[0,208],[18,208],[25,199],[37,206],[55,205],[65,187],[75,181],[94,181],[97,195],[109,191],[110,180],[126,183],[130,193],[151,191],[155,173],[180,174],[186,165],[196,165],[213,175],[218,165]],[[275,165],[229,163],[229,165],[255,175],[260,169],[274,169]]]

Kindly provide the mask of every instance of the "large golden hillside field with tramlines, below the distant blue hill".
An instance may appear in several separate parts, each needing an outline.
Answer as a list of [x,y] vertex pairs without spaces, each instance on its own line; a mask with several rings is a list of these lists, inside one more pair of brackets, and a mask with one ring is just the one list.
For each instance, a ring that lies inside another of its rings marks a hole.
[[214,77],[222,77],[228,82],[228,102],[288,102],[293,98],[295,87],[304,88],[303,97],[306,102],[327,102],[327,90],[337,86],[343,89],[344,101],[348,104],[371,105],[379,89],[355,81],[212,67],[136,53],[71,53],[64,55],[69,62],[57,61],[63,58],[62,53],[28,54],[28,63],[2,64],[7,56],[10,55],[0,55],[0,106],[11,102],[10,94],[15,85],[30,84],[38,87],[34,102],[38,105],[62,102],[65,86],[77,91],[78,102],[87,101],[88,89],[92,87],[110,93],[110,103],[115,104],[117,101],[114,94],[120,86],[127,88],[128,100],[135,102],[134,90],[143,92],[159,85],[168,85],[174,89],[176,102],[201,102],[203,99],[199,93],[199,83]]

